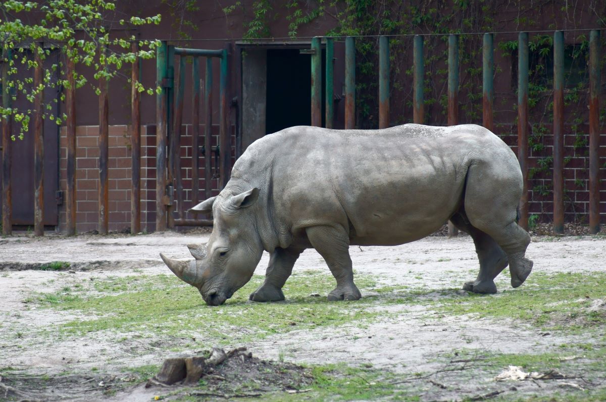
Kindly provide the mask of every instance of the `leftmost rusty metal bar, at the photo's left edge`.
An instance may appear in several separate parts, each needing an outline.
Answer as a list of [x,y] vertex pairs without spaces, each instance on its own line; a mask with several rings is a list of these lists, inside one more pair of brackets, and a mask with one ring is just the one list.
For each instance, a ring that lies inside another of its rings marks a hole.
[[[2,107],[8,109],[11,105],[10,93],[8,92],[8,69],[11,51],[2,50]],[[12,115],[2,119],[2,235],[10,236],[13,233],[13,200],[10,173],[12,164]]]

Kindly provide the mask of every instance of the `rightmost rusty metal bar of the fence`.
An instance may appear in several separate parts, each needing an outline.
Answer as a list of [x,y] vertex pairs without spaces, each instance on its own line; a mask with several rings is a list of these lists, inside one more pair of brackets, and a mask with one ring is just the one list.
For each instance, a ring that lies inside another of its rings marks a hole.
[[600,32],[589,34],[589,233],[600,231]]

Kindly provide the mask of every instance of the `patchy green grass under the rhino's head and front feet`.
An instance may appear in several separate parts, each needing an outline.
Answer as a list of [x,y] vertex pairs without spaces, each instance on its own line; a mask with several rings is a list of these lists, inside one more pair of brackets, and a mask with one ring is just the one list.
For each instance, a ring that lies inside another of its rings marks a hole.
[[[248,295],[263,279],[261,275],[253,276],[221,307],[206,306],[195,288],[172,275],[95,280],[85,286],[42,293],[38,295],[38,303],[81,316],[59,326],[67,335],[116,330],[196,338],[202,333],[213,344],[250,341],[293,329],[368,321],[379,315],[365,310],[368,304],[375,303],[373,298],[330,303],[325,296],[311,296],[325,295],[334,287],[330,275],[316,272],[291,276],[284,287],[286,301],[248,301]],[[356,282],[361,289],[375,286],[370,277],[358,277]]]

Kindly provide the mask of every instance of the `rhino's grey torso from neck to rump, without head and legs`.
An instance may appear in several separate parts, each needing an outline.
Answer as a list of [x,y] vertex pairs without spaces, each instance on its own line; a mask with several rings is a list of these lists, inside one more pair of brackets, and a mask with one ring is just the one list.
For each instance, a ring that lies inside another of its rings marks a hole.
[[513,152],[479,126],[291,127],[253,143],[234,175],[265,189],[272,224],[295,238],[337,224],[351,244],[402,244],[444,224],[470,163],[496,157],[515,169]]

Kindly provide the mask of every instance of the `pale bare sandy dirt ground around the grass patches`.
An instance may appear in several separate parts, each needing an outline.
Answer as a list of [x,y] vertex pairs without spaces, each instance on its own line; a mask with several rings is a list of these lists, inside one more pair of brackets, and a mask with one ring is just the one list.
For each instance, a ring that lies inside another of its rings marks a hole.
[[[207,239],[208,233],[201,232],[73,238],[47,235],[41,239],[24,234],[0,239],[0,384],[4,384],[0,386],[0,400],[3,397],[19,400],[19,392],[39,400],[47,400],[50,395],[59,400],[153,400],[157,389],[145,389],[137,383],[139,377],[124,374],[119,367],[161,364],[174,348],[161,342],[145,344],[146,340],[136,347],[133,341],[124,348],[113,341],[115,337],[104,339],[102,333],[96,338],[74,339],[55,335],[52,330],[44,332],[41,330],[79,319],[78,314],[40,309],[24,301],[32,294],[56,292],[74,277],[102,280],[109,276],[168,273],[159,252],[185,259],[188,258],[185,244],[206,243]],[[527,256],[534,261],[534,273],[604,272],[605,248],[606,239],[602,236],[538,236],[528,247]],[[433,291],[460,289],[465,281],[474,279],[478,269],[473,242],[468,236],[451,239],[433,236],[395,247],[356,246],[350,248],[350,253],[356,275],[373,275],[382,286],[407,284],[425,289],[428,299]],[[70,270],[32,269],[50,261],[68,262]],[[263,275],[267,263],[265,253],[256,273]],[[315,250],[306,250],[295,270],[327,272],[328,269]],[[529,280],[524,286],[533,284]],[[508,278],[498,281],[498,287],[499,292],[511,290]],[[372,290],[362,293],[366,297],[374,295]],[[288,298],[287,292],[285,295]],[[461,297],[465,296],[467,293],[461,291]],[[587,387],[579,380],[555,381],[550,386],[540,381],[534,381],[536,385],[531,381],[497,383],[482,368],[481,353],[550,352],[555,345],[597,342],[593,335],[565,331],[545,334],[540,327],[528,323],[468,315],[442,313],[432,317],[429,307],[422,304],[373,308],[390,315],[364,325],[350,322],[313,330],[293,329],[232,346],[245,346],[256,357],[268,361],[372,366],[390,372],[401,383],[414,383],[421,400],[473,400],[499,394],[502,397],[505,391],[513,392],[514,388],[516,392],[541,389],[541,395],[562,392],[565,395],[568,389],[573,392],[578,387]],[[28,333],[37,335],[30,337]],[[128,335],[124,333],[125,337]],[[461,359],[456,358],[458,352],[453,356],[453,351],[461,349],[468,354]],[[2,371],[3,367],[10,370]],[[468,367],[473,370],[467,370]],[[47,384],[44,391],[36,392],[42,380],[48,383],[48,378],[52,379],[50,386]],[[104,386],[112,383],[126,386],[119,387],[117,394],[102,394]],[[488,395],[490,392],[496,394]]]

